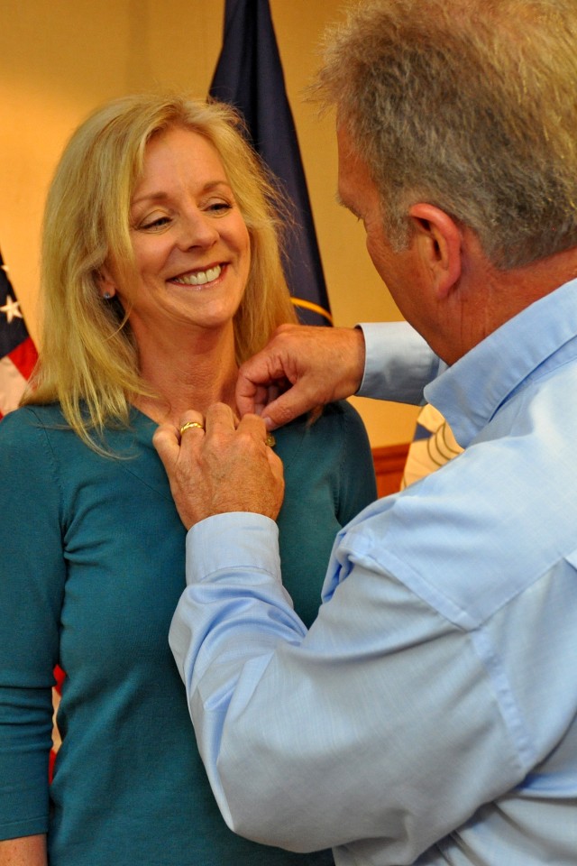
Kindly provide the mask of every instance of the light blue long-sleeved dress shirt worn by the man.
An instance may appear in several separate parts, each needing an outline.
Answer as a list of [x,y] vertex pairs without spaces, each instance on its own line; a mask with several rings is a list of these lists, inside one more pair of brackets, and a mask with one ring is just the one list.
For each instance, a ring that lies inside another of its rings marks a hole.
[[[366,330],[364,392],[403,354],[387,329]],[[577,281],[425,395],[466,450],[340,532],[309,631],[273,521],[188,533],[170,644],[199,749],[260,842],[334,846],[338,866],[574,866]]]

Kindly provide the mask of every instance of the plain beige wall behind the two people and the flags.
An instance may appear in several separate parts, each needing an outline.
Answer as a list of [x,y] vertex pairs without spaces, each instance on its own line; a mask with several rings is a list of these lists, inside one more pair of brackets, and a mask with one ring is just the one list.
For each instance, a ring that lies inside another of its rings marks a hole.
[[[302,98],[325,23],[342,0],[270,0],[298,128],[336,325],[400,318],[373,271],[362,227],[334,201],[333,119]],[[0,5],[0,248],[38,336],[42,203],[61,148],[96,105],[126,92],[186,88],[204,97],[224,0],[3,0]],[[411,438],[415,410],[353,400],[373,447]]]

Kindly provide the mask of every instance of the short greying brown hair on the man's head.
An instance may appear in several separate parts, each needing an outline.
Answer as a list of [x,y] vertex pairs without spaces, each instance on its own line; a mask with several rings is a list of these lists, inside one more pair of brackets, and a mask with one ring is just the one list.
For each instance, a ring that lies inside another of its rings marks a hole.
[[472,228],[498,268],[577,245],[574,0],[370,0],[329,32],[314,90],[398,249],[417,201]]

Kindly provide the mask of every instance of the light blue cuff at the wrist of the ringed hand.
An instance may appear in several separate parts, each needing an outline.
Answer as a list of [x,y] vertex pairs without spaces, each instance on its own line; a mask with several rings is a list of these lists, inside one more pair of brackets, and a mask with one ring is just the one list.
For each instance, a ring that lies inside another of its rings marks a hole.
[[207,517],[188,530],[188,585],[237,568],[266,572],[281,583],[279,528],[269,517],[232,511]]

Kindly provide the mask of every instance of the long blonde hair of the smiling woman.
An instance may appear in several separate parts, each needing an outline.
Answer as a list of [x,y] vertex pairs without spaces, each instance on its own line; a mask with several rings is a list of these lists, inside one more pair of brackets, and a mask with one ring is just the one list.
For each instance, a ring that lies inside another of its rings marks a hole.
[[214,145],[250,235],[251,268],[234,317],[238,363],[266,345],[275,327],[297,320],[280,259],[279,215],[286,220],[287,210],[234,110],[156,94],[99,108],[72,135],[50,185],[41,248],[41,356],[23,398],[59,401],[70,427],[92,447],[95,431],[128,422],[134,395],[151,393],[139,373],[130,310],[103,302],[98,278],[107,262],[124,285],[133,278],[133,190],[146,144],[175,126]]

